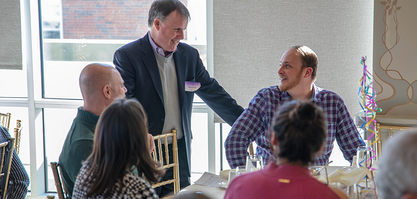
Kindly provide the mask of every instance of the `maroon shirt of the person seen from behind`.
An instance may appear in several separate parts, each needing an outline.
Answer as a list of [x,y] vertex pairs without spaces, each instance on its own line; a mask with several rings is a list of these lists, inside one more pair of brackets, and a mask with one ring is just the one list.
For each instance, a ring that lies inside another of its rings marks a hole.
[[340,199],[305,167],[270,163],[258,172],[237,176],[224,199]]

